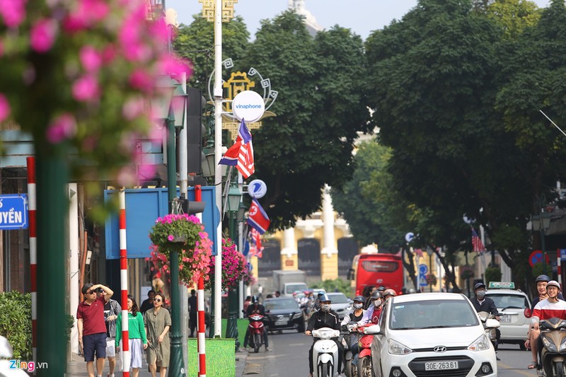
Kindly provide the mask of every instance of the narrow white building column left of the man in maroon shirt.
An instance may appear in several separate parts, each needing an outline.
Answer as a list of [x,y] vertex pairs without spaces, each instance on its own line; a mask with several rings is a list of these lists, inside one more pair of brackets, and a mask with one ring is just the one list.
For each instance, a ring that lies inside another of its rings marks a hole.
[[[76,315],[79,306],[79,191],[69,183],[69,314]],[[76,321],[76,319],[75,319]],[[79,353],[79,330],[71,329],[71,352]]]

